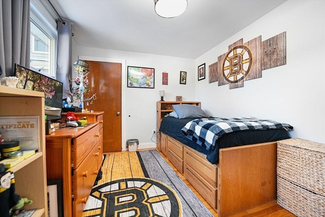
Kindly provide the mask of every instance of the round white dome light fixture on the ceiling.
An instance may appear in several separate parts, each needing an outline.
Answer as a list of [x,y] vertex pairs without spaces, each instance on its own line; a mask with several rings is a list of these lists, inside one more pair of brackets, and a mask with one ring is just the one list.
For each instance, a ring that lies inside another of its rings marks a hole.
[[153,0],[154,10],[164,18],[172,18],[181,15],[186,7],[187,0]]

